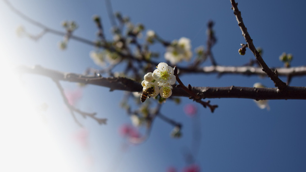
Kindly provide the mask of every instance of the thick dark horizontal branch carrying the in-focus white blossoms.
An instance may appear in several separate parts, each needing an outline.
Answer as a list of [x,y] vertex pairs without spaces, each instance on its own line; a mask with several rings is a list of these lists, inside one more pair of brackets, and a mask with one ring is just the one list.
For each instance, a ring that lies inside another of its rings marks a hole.
[[[29,68],[20,66],[18,68],[21,73],[31,73],[46,76],[52,79],[77,82],[84,84],[92,84],[110,88],[113,90],[124,90],[130,92],[139,92],[142,90],[140,83],[122,77],[94,77],[84,76],[74,73],[63,73],[46,69],[41,66]],[[290,87],[287,86],[285,90],[279,91],[277,88],[252,88],[252,87],[192,87],[192,91],[201,96],[201,98],[248,98],[255,100],[266,99],[306,99],[306,87]],[[182,88],[173,89],[173,96],[190,97]]]

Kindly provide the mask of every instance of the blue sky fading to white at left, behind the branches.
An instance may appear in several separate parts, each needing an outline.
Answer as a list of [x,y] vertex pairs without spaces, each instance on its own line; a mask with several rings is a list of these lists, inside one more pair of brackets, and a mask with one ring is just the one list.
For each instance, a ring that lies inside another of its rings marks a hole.
[[[79,25],[75,35],[89,40],[95,40],[96,33],[92,16],[99,15],[102,18],[106,38],[112,39],[104,1],[11,0],[10,2],[33,20],[56,30],[64,31],[60,25],[63,20],[74,20]],[[254,45],[263,48],[263,58],[268,66],[283,66],[278,60],[283,52],[293,54],[292,66],[306,64],[303,49],[306,39],[305,2],[237,2]],[[144,24],[146,29],[156,31],[165,40],[190,38],[193,49],[205,45],[206,25],[209,20],[213,20],[218,42],[212,51],[218,64],[240,66],[254,58],[249,51],[245,56],[238,54],[240,44],[245,41],[231,10],[230,1],[117,0],[111,3],[115,12],[119,11],[123,16],[129,16],[134,24]],[[70,40],[67,50],[61,51],[57,43],[63,38],[52,34],[47,34],[36,42],[28,38],[18,38],[16,29],[20,25],[32,34],[40,33],[41,29],[14,14],[4,1],[0,1],[0,11],[2,23],[0,58],[3,67],[6,63],[13,66],[41,65],[75,73],[83,73],[87,67],[98,68],[89,57],[89,52],[94,50],[93,47]],[[161,55],[165,52],[161,46],[152,48]],[[165,61],[163,56],[159,60]],[[211,65],[209,61],[204,64],[204,66],[209,65]],[[7,71],[2,70],[2,73],[7,74]],[[181,79],[184,83],[193,86],[252,87],[255,82],[261,82],[273,87],[270,79],[255,76],[225,75],[217,78],[216,75],[197,74],[186,75]],[[281,79],[286,80],[286,78]],[[219,105],[214,113],[188,98],[182,98],[181,105],[168,101],[162,107],[162,113],[183,124],[183,137],[180,139],[170,137],[173,126],[156,119],[148,140],[121,151],[122,145],[126,142],[118,134],[118,128],[123,123],[130,123],[125,111],[118,108],[123,92],[109,92],[107,88],[87,86],[77,107],[97,112],[100,117],[108,118],[108,124],[101,126],[91,119],[82,119],[78,116],[89,132],[89,147],[84,149],[71,138],[80,127],[75,124],[64,106],[54,82],[49,78],[25,75],[22,77],[22,83],[18,91],[13,90],[10,83],[2,88],[4,92],[8,89],[7,92],[15,93],[10,96],[11,99],[8,101],[10,105],[4,110],[4,114],[8,114],[3,120],[8,122],[4,123],[12,122],[12,125],[5,125],[2,128],[2,132],[5,133],[4,140],[8,140],[2,147],[9,146],[5,148],[8,150],[5,155],[12,155],[12,159],[8,160],[13,160],[17,155],[19,158],[15,160],[21,165],[28,164],[25,166],[26,169],[43,169],[37,165],[42,162],[45,166],[60,165],[64,162],[67,171],[108,171],[113,166],[116,171],[166,171],[169,166],[181,171],[187,165],[183,152],[192,149],[195,120],[183,112],[184,105],[189,103],[198,107],[196,121],[201,126],[201,145],[195,161],[200,165],[201,171],[304,171],[306,169],[304,100],[271,100],[269,101],[271,109],[267,111],[259,109],[250,99],[211,99],[212,104]],[[74,83],[62,84],[65,89],[77,88]],[[290,85],[305,86],[305,77],[293,78]],[[25,94],[27,98],[19,98],[20,94]],[[32,102],[31,105],[28,105],[29,102]],[[28,117],[32,112],[28,106],[36,107],[42,103],[48,104],[48,110],[38,116]],[[20,106],[14,109],[16,104]],[[21,109],[21,112],[17,109]],[[37,128],[30,128],[30,123],[28,125],[21,122],[23,120],[33,122],[32,119],[34,123],[39,123],[32,125]],[[43,126],[40,125],[41,121],[44,123]],[[50,140],[53,140],[50,147],[39,147],[50,143]],[[41,160],[49,157],[50,152],[46,149],[58,153],[54,158]],[[31,154],[33,156],[30,156]],[[59,156],[61,158],[57,158]],[[90,165],[86,163],[88,157],[93,161]],[[35,165],[36,168],[33,167]]]

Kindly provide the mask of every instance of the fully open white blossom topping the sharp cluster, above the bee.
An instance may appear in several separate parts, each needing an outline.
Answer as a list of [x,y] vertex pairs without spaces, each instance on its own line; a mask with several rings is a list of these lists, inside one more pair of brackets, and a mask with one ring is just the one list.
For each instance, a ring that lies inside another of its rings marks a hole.
[[174,76],[174,70],[167,63],[160,63],[157,69],[153,72],[153,78],[156,80],[157,85],[170,86],[175,84],[176,77]]

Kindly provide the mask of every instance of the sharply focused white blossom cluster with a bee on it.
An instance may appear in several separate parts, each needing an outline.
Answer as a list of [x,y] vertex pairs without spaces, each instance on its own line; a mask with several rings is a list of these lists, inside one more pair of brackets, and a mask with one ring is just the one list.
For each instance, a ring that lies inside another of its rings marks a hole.
[[146,91],[148,96],[156,97],[160,93],[163,98],[168,98],[172,95],[172,85],[175,84],[176,77],[174,69],[167,63],[160,63],[153,73],[149,72],[143,78],[142,90]]

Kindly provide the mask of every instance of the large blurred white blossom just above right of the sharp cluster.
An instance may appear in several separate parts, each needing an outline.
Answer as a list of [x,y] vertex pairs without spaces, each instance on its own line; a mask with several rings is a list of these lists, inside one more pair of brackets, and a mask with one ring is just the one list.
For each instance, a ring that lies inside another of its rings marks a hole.
[[177,64],[182,60],[189,61],[192,57],[190,39],[182,37],[179,41],[174,40],[170,46],[167,47],[165,59],[169,60],[171,64]]

